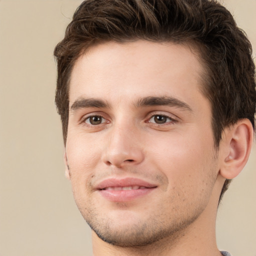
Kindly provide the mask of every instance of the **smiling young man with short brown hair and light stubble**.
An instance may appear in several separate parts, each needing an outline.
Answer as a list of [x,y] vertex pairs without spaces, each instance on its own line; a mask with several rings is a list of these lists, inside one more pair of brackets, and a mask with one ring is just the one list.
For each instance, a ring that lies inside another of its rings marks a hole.
[[66,176],[98,255],[228,255],[215,216],[253,141],[255,67],[207,0],[86,0],[56,46]]

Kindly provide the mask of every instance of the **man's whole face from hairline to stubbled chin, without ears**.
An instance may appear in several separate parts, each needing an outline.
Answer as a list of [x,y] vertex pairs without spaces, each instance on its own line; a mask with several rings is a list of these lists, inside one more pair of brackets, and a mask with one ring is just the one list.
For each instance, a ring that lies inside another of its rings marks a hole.
[[76,61],[66,164],[101,239],[148,244],[206,208],[218,162],[201,73],[189,47],[143,40],[96,45]]

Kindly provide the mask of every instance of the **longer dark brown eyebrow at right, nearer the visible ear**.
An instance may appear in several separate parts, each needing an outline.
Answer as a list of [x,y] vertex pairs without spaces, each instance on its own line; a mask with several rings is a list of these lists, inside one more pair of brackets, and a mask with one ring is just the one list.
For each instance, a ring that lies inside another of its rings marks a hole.
[[159,106],[159,105],[173,106],[173,107],[181,108],[184,110],[192,111],[191,107],[187,103],[177,98],[169,97],[169,96],[161,96],[161,97],[148,96],[148,97],[139,99],[135,103],[135,107]]

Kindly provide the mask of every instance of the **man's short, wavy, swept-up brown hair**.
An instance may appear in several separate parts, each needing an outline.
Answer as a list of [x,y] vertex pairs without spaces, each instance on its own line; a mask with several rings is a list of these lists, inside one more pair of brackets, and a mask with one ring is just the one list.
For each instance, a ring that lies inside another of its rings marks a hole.
[[[72,67],[91,45],[137,39],[197,45],[205,66],[202,91],[212,110],[218,148],[223,128],[248,118],[254,128],[255,66],[252,48],[230,12],[215,0],[85,0],[76,9],[55,49],[55,103],[64,143],[68,125],[68,84]],[[226,180],[221,195],[227,189]]]

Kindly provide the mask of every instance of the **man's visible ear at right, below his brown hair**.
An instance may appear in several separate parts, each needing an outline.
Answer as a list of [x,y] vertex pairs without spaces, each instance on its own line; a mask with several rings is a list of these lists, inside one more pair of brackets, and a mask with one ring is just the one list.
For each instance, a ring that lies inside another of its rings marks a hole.
[[224,155],[220,174],[227,179],[237,176],[247,162],[253,142],[253,128],[248,119],[240,119],[225,128],[222,146]]

